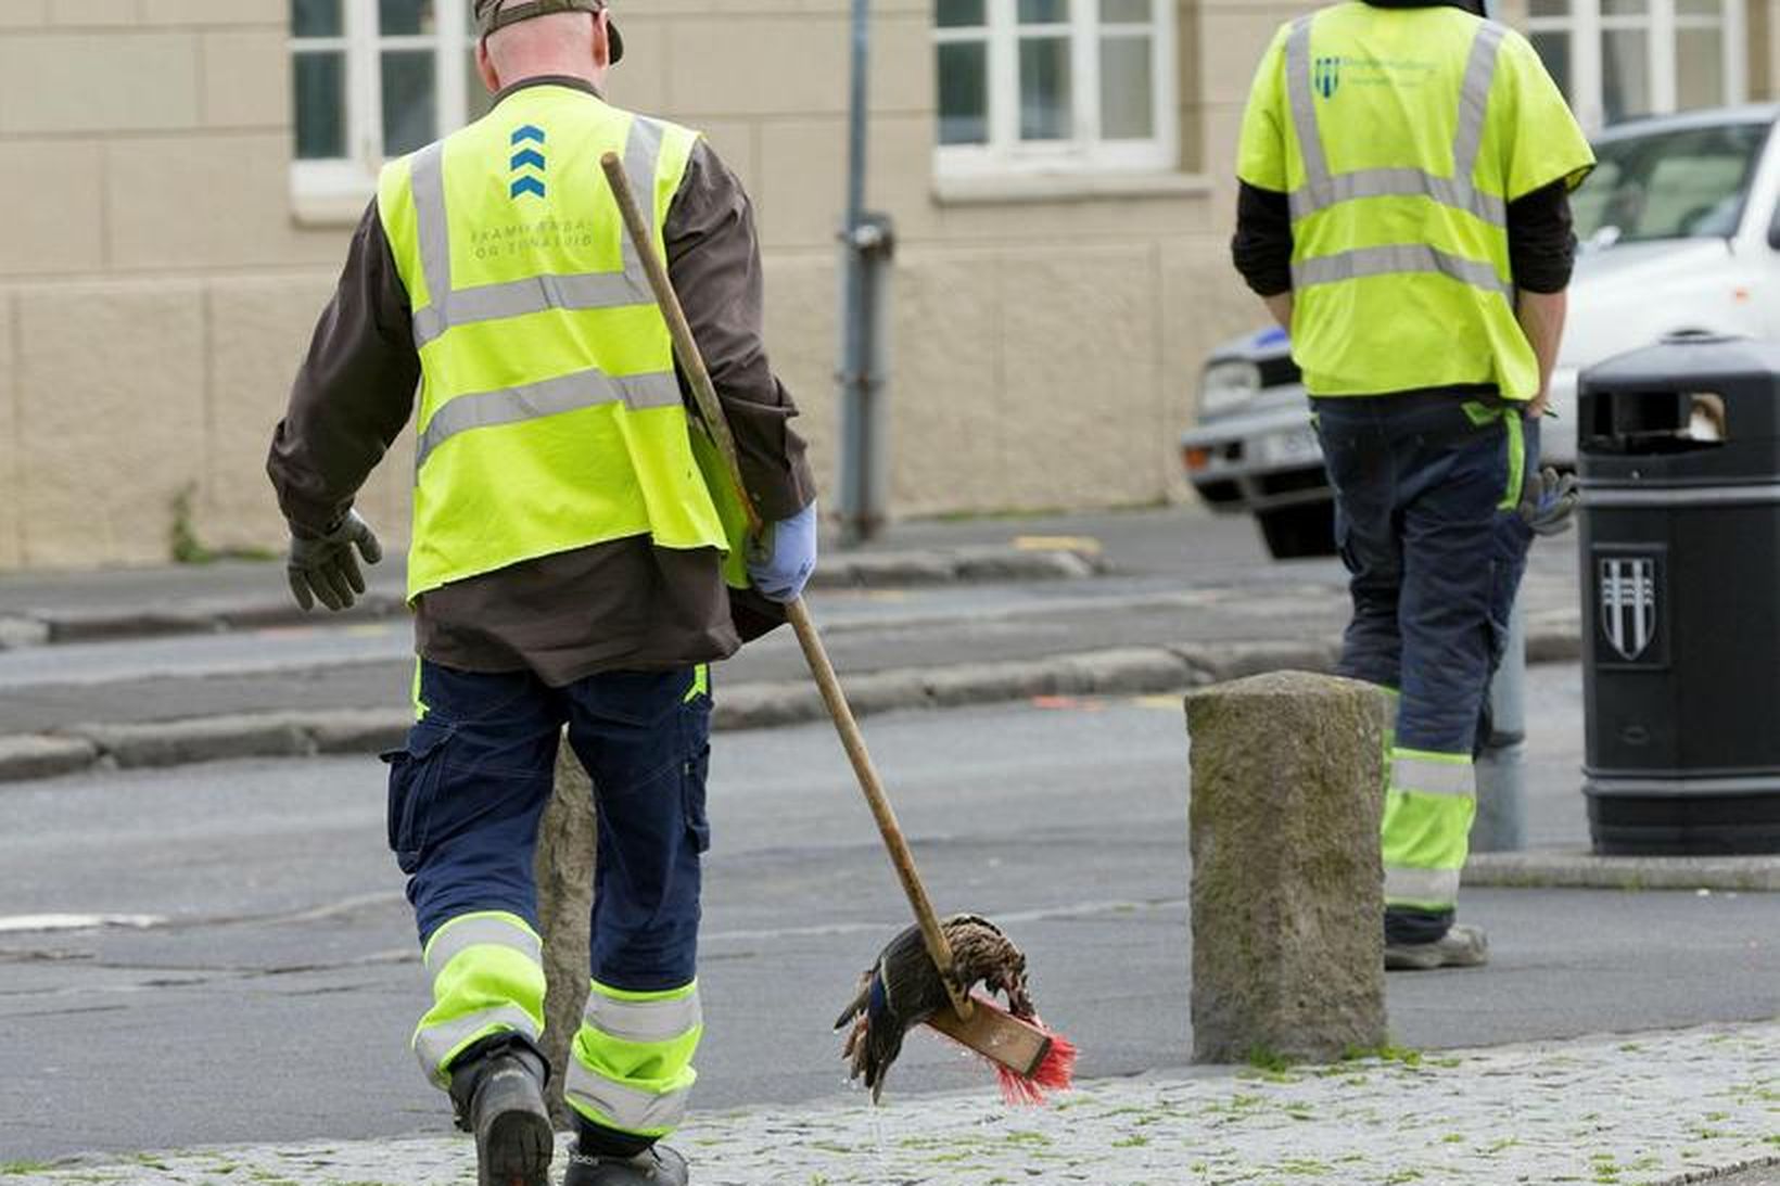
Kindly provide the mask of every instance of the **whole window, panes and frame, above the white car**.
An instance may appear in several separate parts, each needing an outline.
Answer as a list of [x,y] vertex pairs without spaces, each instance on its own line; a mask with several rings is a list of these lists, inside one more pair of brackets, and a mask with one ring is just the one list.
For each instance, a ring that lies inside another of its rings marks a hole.
[[1586,128],[1737,103],[1743,0],[1531,0],[1527,36]]

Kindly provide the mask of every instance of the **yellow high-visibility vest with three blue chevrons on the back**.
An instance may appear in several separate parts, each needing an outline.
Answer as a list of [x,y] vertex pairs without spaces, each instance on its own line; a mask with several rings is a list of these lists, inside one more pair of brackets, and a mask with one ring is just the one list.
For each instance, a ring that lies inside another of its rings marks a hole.
[[422,370],[409,600],[643,534],[719,548],[746,581],[739,502],[701,468],[716,454],[689,436],[668,322],[600,171],[623,157],[660,251],[696,142],[543,84],[384,167]]

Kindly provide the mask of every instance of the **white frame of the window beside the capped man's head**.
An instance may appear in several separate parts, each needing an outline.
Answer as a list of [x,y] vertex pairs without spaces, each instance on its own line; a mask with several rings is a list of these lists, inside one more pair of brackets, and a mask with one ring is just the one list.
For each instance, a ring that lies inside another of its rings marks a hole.
[[433,50],[433,80],[438,87],[434,135],[443,137],[463,126],[470,110],[470,87],[482,80],[468,62],[475,34],[463,0],[434,0],[433,32],[384,36],[377,28],[377,0],[342,0],[342,32],[336,37],[290,36],[292,59],[310,52],[345,55],[345,144],[347,157],[301,160],[295,146],[295,119],[290,114],[290,189],[301,203],[329,207],[363,203],[377,189],[383,169],[383,52]]

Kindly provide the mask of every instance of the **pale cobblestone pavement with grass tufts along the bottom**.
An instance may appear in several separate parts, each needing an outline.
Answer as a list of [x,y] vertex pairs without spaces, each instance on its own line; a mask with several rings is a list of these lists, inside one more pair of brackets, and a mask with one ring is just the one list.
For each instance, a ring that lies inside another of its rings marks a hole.
[[[883,1108],[862,1097],[700,1115],[680,1147],[700,1186],[1691,1182],[1780,1163],[1780,1020],[1152,1074],[1089,1083],[1043,1109],[1007,1109],[984,1086]],[[465,1138],[0,1163],[7,1186],[472,1181]]]

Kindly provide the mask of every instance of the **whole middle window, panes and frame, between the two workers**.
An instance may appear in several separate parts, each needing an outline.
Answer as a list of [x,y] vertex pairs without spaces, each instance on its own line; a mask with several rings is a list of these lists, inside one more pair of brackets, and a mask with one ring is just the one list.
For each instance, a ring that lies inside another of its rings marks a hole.
[[1171,169],[1171,0],[936,0],[942,173]]

